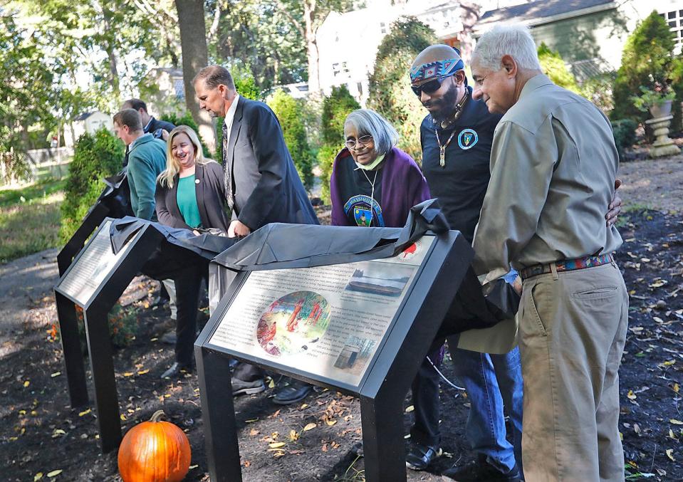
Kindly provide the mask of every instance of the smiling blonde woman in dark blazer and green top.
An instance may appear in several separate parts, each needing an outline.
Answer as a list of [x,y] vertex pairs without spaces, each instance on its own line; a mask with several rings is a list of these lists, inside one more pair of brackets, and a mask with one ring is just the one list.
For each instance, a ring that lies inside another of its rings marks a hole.
[[157,218],[174,228],[228,232],[223,168],[204,159],[199,137],[179,125],[168,137],[166,169],[157,177]]

